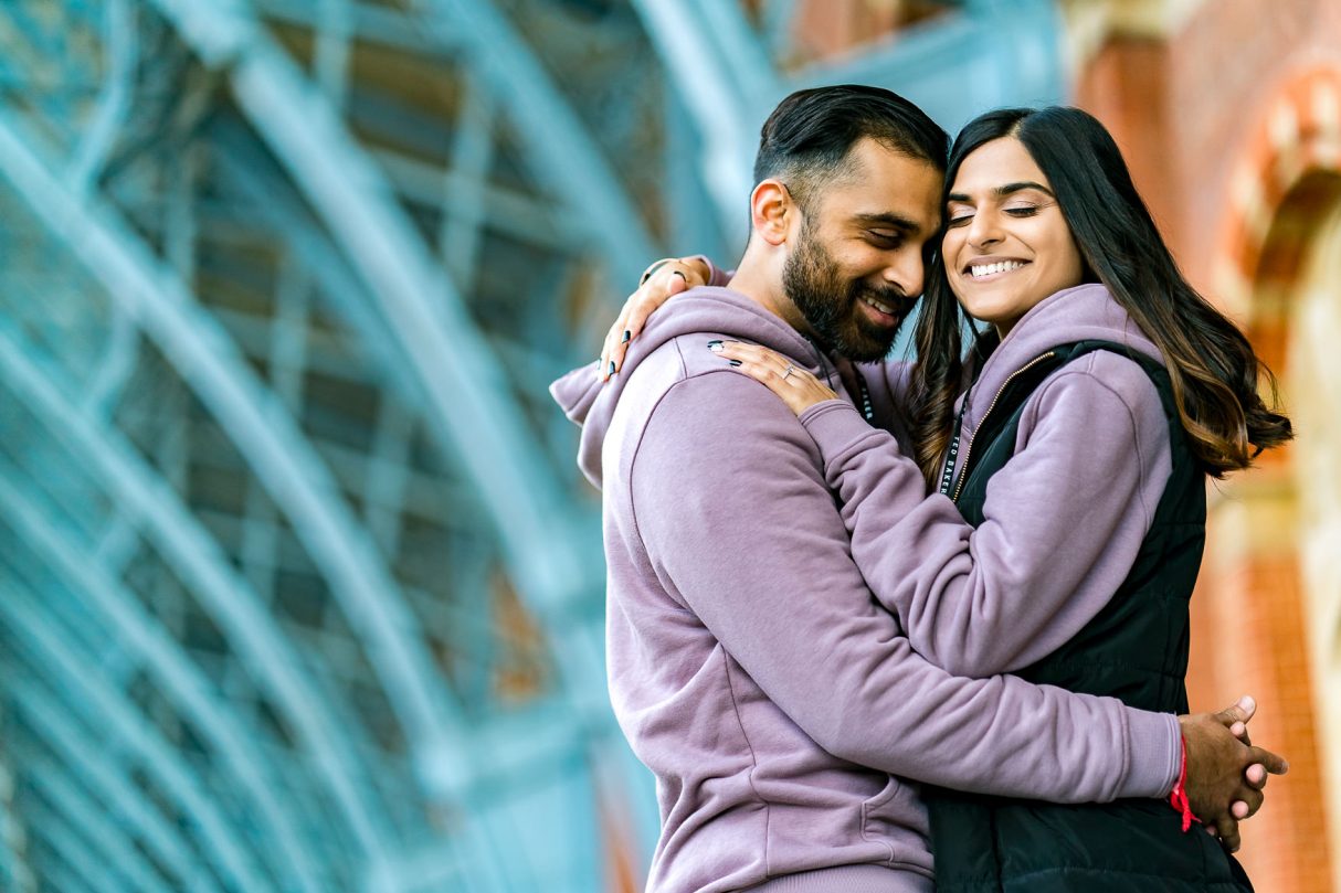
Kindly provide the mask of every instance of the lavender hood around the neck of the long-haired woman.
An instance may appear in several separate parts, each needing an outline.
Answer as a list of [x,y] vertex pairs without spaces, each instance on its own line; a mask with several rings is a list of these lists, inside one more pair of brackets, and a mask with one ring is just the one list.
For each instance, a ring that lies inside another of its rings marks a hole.
[[[1063,288],[1034,304],[996,346],[966,394],[966,432],[976,430],[996,392],[1016,370],[1039,354],[1074,341],[1112,341],[1164,361],[1130,315],[1113,300],[1108,287],[1086,283]],[[961,398],[963,400],[963,398]]]

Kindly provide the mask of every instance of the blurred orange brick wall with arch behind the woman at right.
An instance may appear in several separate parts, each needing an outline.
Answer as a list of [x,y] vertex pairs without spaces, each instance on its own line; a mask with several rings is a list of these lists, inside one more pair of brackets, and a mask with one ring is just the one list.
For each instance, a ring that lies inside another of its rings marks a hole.
[[[1341,170],[1341,0],[1215,0],[1173,34],[1112,35],[1077,72],[1075,101],[1114,131],[1175,256],[1283,377],[1287,408],[1341,388],[1336,361],[1329,381],[1287,375],[1310,240],[1341,205],[1341,174],[1328,173]],[[1341,593],[1302,590],[1297,453],[1212,489],[1189,693],[1193,709],[1261,701],[1254,739],[1291,767],[1244,827],[1242,861],[1259,890],[1322,893],[1341,889],[1341,817],[1326,807],[1341,802],[1341,767],[1322,721],[1341,695],[1336,632],[1314,626],[1334,623]]]

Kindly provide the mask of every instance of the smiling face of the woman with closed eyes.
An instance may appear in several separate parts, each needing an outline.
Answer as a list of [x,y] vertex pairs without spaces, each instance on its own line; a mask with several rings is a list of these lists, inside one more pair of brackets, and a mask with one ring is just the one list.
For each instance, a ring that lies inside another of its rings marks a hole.
[[941,256],[951,291],[1003,338],[1030,307],[1082,282],[1085,264],[1051,185],[1014,137],[964,158],[945,220]]

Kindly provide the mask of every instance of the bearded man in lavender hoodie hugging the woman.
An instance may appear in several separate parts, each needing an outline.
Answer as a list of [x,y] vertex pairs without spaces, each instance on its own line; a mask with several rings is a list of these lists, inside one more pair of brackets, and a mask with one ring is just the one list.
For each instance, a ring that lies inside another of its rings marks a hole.
[[888,353],[921,292],[945,150],[888,91],[793,94],[763,129],[730,288],[669,303],[611,385],[583,369],[552,389],[603,489],[610,696],[661,805],[650,890],[929,890],[905,779],[1165,796],[1181,732],[1193,809],[1232,823],[1232,798],[1261,803],[1247,766],[1278,760],[1226,731],[1246,711],[1180,721],[924,661],[853,563],[814,442],[712,353],[772,347],[888,417],[889,388],[849,361]]

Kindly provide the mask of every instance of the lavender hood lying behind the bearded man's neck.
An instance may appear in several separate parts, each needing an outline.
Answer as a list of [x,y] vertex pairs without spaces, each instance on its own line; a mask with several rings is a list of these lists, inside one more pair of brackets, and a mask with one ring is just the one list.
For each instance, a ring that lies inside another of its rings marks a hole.
[[701,335],[704,350],[713,338],[771,347],[843,393],[833,363],[780,316],[730,288],[691,288],[648,318],[646,327],[629,343],[624,366],[610,381],[602,383],[595,365],[587,363],[550,385],[550,394],[563,413],[582,426],[578,467],[594,485],[601,487],[601,445],[629,378],[644,359],[684,335]]

